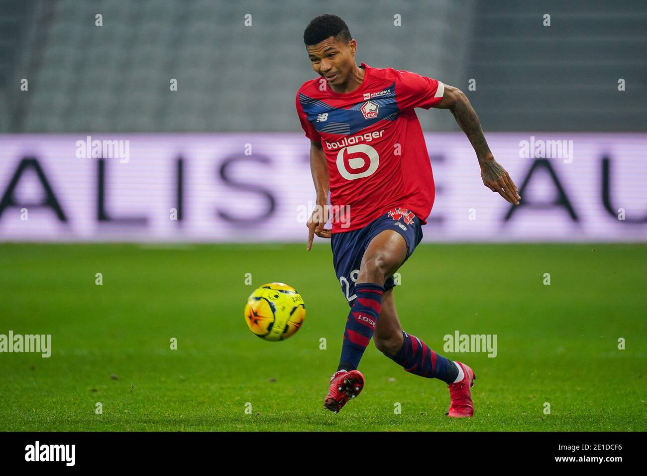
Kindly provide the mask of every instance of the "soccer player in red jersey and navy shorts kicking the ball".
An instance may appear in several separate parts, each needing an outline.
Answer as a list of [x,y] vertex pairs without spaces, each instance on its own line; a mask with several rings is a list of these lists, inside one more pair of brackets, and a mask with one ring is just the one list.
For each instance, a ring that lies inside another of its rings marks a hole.
[[[521,199],[518,188],[494,160],[459,89],[410,71],[356,65],[357,42],[335,15],[314,18],[303,41],[322,76],[303,83],[296,95],[311,140],[316,190],[307,249],[315,234],[331,238],[334,269],[351,306],[324,406],[337,413],[362,391],[357,367],[372,337],[407,372],[447,383],[449,416],[472,416],[472,369],[402,331],[393,302],[393,273],[420,243],[434,198],[432,167],[413,109],[449,109],[474,147],[483,184],[514,205]],[[329,219],[332,227],[325,229]]]

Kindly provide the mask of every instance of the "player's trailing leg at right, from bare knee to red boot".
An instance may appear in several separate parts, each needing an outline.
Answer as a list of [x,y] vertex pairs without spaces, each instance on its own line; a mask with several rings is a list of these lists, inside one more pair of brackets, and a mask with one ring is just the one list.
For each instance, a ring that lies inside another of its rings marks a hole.
[[[450,407],[448,415],[452,417],[472,416],[474,404],[470,388],[474,385],[476,376],[470,367],[461,362],[448,361],[447,372],[434,372],[433,367],[444,359],[426,347],[426,344],[413,335],[402,332],[400,321],[395,310],[393,289],[384,292],[380,318],[377,321],[373,343],[382,354],[404,367],[404,370],[423,377],[441,378],[450,389]],[[415,347],[415,350],[414,348]],[[420,358],[415,358],[420,354]],[[435,355],[435,358],[432,357]],[[431,368],[426,365],[425,358],[429,356]],[[447,360],[447,359],[445,359]],[[454,368],[455,367],[455,368]]]

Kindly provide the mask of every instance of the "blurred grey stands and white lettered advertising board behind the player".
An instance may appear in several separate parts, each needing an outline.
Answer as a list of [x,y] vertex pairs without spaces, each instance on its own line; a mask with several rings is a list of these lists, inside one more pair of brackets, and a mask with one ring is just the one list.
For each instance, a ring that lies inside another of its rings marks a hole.
[[[314,75],[303,28],[324,10],[343,13],[358,63],[463,89],[523,185],[513,213],[454,119],[420,111],[438,183],[425,240],[646,236],[642,1],[0,5],[0,240],[302,240],[313,187],[294,96]],[[132,161],[76,157],[77,141],[129,141]],[[521,141],[565,150],[521,157]],[[25,203],[32,220],[13,220]]]

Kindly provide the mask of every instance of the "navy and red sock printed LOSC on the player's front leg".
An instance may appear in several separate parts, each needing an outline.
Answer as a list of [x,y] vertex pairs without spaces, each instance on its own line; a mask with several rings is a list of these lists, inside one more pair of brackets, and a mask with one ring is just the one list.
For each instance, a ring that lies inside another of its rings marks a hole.
[[380,317],[384,286],[370,282],[356,283],[353,307],[346,319],[342,356],[337,370],[355,370],[371,342]]

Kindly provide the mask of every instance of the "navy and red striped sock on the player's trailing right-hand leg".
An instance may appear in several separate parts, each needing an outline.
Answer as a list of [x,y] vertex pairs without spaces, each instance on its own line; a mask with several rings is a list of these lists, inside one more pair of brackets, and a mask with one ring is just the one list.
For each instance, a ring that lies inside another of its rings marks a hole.
[[393,357],[388,354],[384,354],[385,356],[411,374],[437,378],[445,383],[453,383],[456,380],[459,371],[454,362],[433,352],[415,335],[402,332],[402,337],[404,337],[404,343],[397,354]]

